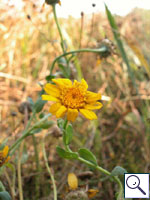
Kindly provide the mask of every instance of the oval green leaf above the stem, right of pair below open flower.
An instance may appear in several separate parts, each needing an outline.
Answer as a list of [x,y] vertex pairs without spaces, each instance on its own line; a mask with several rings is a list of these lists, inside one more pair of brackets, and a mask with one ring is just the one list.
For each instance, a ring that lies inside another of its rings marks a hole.
[[88,149],[85,149],[85,148],[79,149],[78,153],[79,153],[81,158],[97,165],[95,155],[91,151],[89,151]]

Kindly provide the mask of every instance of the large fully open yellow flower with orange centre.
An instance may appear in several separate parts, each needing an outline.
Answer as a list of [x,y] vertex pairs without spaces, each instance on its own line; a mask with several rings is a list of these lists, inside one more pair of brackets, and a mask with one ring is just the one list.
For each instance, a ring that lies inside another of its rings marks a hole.
[[92,111],[100,109],[102,104],[98,102],[101,94],[87,91],[88,85],[84,79],[81,83],[74,81],[73,84],[69,79],[52,79],[55,85],[47,83],[44,87],[47,95],[42,95],[43,100],[53,101],[50,107],[50,113],[57,118],[67,114],[67,120],[75,121],[80,112],[87,119],[97,119],[96,114]]

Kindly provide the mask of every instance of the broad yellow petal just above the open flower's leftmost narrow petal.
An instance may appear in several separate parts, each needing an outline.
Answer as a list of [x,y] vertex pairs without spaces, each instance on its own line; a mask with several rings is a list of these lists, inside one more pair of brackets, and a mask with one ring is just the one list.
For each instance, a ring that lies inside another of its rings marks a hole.
[[57,88],[56,85],[53,85],[51,83],[47,83],[44,86],[44,90],[47,94],[50,94],[53,97],[59,97],[60,96],[60,90]]

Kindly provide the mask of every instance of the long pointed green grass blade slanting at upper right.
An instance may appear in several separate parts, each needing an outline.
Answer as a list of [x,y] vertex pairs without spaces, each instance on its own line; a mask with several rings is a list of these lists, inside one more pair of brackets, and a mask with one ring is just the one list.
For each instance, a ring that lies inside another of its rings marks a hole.
[[114,38],[115,38],[115,40],[117,42],[117,46],[118,46],[118,48],[120,50],[121,56],[122,56],[122,58],[123,58],[123,60],[124,60],[124,62],[126,64],[126,66],[128,68],[128,73],[129,73],[129,76],[131,78],[132,84],[137,89],[137,86],[136,86],[136,83],[135,83],[135,78],[134,78],[134,73],[133,73],[133,71],[131,69],[127,54],[126,54],[126,52],[124,50],[123,43],[122,43],[122,41],[120,39],[120,34],[119,34],[119,31],[118,31],[117,24],[116,24],[115,19],[114,19],[113,15],[111,14],[111,12],[108,9],[106,4],[105,4],[105,9],[106,9],[106,14],[107,14],[108,21],[110,23],[112,32],[114,34]]

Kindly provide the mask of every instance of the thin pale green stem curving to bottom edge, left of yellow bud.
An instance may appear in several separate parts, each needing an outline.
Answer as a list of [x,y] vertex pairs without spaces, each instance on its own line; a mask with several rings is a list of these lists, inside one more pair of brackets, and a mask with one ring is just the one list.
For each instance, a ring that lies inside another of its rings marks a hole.
[[45,160],[45,165],[46,165],[47,171],[50,175],[50,178],[51,178],[52,184],[53,184],[54,200],[57,200],[57,189],[56,189],[55,179],[54,179],[54,176],[53,176],[51,169],[48,165],[48,159],[47,159],[47,156],[46,156],[44,140],[43,140],[43,143],[42,143],[42,148],[43,148],[43,156],[44,156],[44,160]]

